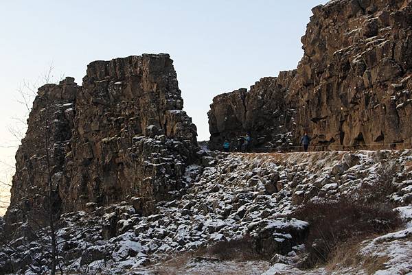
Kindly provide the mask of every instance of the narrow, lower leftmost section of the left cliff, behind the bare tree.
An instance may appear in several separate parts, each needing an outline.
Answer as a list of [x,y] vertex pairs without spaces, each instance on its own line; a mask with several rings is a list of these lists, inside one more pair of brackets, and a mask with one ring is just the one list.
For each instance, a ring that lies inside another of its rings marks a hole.
[[59,211],[62,198],[57,185],[65,175],[65,155],[70,151],[74,102],[79,88],[73,78],[67,77],[58,85],[47,84],[38,89],[25,138],[16,152],[16,174],[5,215],[9,226],[26,217],[36,223],[45,220],[49,195],[56,212]]

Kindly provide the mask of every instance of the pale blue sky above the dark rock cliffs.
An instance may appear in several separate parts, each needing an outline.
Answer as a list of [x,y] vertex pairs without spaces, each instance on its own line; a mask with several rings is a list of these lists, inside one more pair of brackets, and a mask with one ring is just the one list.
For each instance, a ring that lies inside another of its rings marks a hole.
[[[34,81],[54,64],[81,84],[93,60],[170,53],[184,109],[209,138],[211,99],[260,77],[295,69],[300,38],[325,0],[238,1],[7,1],[0,0],[0,139],[14,144],[6,125],[21,117],[15,101],[23,79]],[[0,158],[14,150],[0,150]]]

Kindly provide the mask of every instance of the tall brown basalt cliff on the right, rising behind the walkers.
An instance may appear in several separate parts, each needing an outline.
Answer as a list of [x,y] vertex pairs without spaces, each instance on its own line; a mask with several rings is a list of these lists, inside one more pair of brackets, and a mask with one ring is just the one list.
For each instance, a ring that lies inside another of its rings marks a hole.
[[[211,147],[242,131],[251,131],[253,137],[255,128],[267,129],[265,138],[283,133],[284,128],[273,128],[271,119],[259,119],[261,111],[253,110],[265,99],[277,100],[264,103],[273,108],[267,113],[296,110],[296,129],[288,129],[294,143],[307,131],[312,145],[319,145],[317,149],[328,145],[339,149],[411,146],[412,2],[340,0],[319,5],[312,12],[301,38],[304,57],[293,80],[280,89],[268,83],[260,90],[235,91],[214,99],[209,112]],[[242,97],[256,103],[231,104]],[[231,123],[231,117],[244,112],[254,113],[263,125]]]

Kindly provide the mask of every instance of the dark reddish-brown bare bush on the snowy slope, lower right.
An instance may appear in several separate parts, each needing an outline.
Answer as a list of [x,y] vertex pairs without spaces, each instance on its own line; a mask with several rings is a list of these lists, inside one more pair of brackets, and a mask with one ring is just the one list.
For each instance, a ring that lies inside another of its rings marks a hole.
[[394,206],[385,201],[395,188],[393,171],[380,170],[375,184],[363,185],[357,194],[310,201],[297,209],[296,217],[310,224],[306,267],[330,261],[345,243],[356,243],[402,226],[402,219],[392,211]]

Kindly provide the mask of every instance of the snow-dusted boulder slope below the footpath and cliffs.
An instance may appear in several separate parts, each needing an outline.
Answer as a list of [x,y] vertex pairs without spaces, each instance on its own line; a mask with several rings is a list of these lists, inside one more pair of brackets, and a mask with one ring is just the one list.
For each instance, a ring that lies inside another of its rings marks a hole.
[[[127,201],[62,215],[60,255],[64,269],[72,274],[84,274],[80,272],[84,269],[103,274],[174,274],[172,270],[179,270],[179,274],[202,274],[202,270],[222,274],[219,272],[227,270],[231,274],[237,268],[244,272],[238,274],[266,270],[265,274],[277,274],[276,270],[284,272],[280,274],[330,274],[323,269],[297,268],[305,259],[302,244],[310,225],[295,219],[295,208],[308,200],[357,193],[363,184],[376,184],[380,167],[396,165],[397,173],[391,178],[396,189],[387,193],[387,200],[397,202],[401,206],[397,211],[412,220],[411,164],[411,150],[218,154],[207,167],[186,167],[183,180],[187,192],[180,200],[157,202],[155,215],[141,215],[139,208]],[[385,274],[407,271],[412,268],[408,254],[412,251],[412,224],[407,226],[397,233],[365,240],[359,253],[386,253],[382,266],[390,270]],[[25,274],[47,270],[47,242],[41,241],[47,236],[43,234],[38,233],[40,237],[30,240],[30,245],[23,237],[10,243],[16,251],[34,255],[30,258],[32,271]],[[168,255],[179,259],[185,251],[244,236],[250,236],[253,250],[265,261],[236,263],[188,256],[177,267],[170,261],[157,264]],[[392,252],[385,252],[389,250]],[[22,273],[29,268],[27,259],[18,255],[10,248],[1,250],[3,274],[12,272],[5,271],[7,266],[14,272],[22,268]],[[269,268],[271,258],[273,266]],[[347,272],[348,268],[342,267],[336,274],[365,274],[365,270]]]

